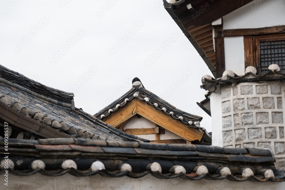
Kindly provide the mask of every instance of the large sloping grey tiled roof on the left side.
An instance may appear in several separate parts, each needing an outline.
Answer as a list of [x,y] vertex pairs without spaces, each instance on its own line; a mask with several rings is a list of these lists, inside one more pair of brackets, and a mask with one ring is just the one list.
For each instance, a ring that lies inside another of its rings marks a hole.
[[73,93],[33,81],[0,65],[0,118],[37,138],[80,137],[148,141],[74,107]]

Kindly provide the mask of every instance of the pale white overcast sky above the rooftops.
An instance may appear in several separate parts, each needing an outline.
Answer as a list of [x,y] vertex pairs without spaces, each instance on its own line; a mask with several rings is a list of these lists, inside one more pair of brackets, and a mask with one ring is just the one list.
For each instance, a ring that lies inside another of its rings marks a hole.
[[178,109],[211,117],[203,75],[212,75],[162,0],[1,0],[0,64],[74,93],[91,115],[131,88],[134,77]]

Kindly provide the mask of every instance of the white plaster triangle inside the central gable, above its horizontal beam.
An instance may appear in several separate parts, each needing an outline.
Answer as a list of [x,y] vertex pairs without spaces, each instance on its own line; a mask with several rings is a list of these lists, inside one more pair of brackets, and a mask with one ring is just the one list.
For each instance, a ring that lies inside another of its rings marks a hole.
[[138,129],[138,128],[154,128],[155,124],[150,120],[145,119],[144,117],[138,118],[134,116],[130,118],[123,126],[123,129]]

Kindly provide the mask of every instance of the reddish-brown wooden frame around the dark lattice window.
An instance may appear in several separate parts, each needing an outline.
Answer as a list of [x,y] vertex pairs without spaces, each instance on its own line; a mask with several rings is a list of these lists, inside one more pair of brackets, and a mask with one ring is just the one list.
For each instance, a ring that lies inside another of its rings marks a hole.
[[245,68],[253,66],[257,69],[257,74],[261,74],[260,63],[260,42],[271,42],[285,40],[285,34],[268,34],[258,36],[244,36]]

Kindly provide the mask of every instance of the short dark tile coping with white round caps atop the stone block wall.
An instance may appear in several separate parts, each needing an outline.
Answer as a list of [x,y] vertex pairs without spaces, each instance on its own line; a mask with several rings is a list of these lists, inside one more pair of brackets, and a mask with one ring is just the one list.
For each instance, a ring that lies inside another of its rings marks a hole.
[[272,64],[268,67],[268,71],[263,74],[257,75],[257,70],[249,66],[245,70],[245,75],[239,76],[231,70],[226,70],[223,73],[223,77],[218,79],[213,79],[210,75],[205,75],[202,78],[201,88],[214,92],[216,90],[216,85],[219,84],[232,84],[232,83],[242,83],[242,82],[254,82],[254,81],[273,81],[273,80],[283,80],[285,79],[285,73],[280,72],[280,68],[276,64]]

